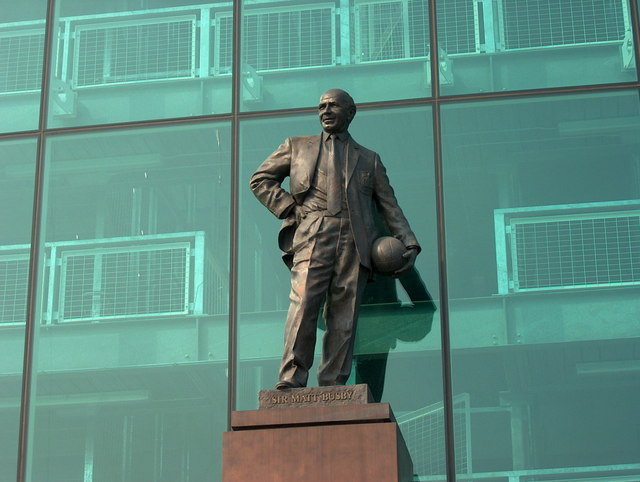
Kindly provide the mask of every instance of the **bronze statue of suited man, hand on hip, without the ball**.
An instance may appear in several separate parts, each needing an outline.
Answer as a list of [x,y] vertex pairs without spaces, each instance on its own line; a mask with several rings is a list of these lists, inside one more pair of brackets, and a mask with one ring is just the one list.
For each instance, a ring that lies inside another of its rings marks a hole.
[[[260,202],[284,219],[278,243],[291,269],[278,389],[307,385],[323,303],[326,332],[318,383],[344,385],[349,378],[358,309],[372,273],[371,244],[379,236],[374,209],[407,249],[406,262],[394,276],[410,270],[420,252],[380,156],[347,131],[356,114],[351,96],[328,90],[320,97],[318,114],[323,132],[286,139],[250,182]],[[282,188],[287,176],[289,191]]]

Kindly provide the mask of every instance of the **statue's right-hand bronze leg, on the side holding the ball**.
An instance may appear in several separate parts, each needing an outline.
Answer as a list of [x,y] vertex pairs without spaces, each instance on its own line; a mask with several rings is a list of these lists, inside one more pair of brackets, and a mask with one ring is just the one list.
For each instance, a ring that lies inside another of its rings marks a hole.
[[344,385],[349,378],[358,311],[368,278],[356,252],[349,220],[338,220],[341,228],[324,311],[327,330],[318,368],[320,385]]

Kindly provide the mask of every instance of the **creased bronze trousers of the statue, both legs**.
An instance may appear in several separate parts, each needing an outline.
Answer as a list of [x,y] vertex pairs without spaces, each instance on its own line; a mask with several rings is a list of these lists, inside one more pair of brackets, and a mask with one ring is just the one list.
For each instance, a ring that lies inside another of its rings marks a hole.
[[296,231],[293,249],[280,381],[307,385],[324,302],[326,331],[318,383],[344,385],[351,372],[358,310],[368,277],[349,219],[310,213]]

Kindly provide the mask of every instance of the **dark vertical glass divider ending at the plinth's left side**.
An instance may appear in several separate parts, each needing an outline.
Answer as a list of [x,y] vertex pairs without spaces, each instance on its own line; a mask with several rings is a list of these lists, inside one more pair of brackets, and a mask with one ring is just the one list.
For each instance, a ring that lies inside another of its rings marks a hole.
[[239,222],[239,119],[242,94],[240,39],[242,25],[242,1],[233,2],[233,82],[231,86],[231,225],[229,259],[229,343],[228,343],[228,393],[227,425],[231,429],[231,412],[236,409],[237,344],[238,344],[238,222]]

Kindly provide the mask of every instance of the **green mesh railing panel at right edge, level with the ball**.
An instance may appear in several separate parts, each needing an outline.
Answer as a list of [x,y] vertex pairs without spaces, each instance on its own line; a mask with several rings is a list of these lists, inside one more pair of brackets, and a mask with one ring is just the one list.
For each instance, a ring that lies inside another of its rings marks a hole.
[[640,214],[511,221],[516,291],[640,283]]

